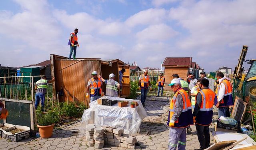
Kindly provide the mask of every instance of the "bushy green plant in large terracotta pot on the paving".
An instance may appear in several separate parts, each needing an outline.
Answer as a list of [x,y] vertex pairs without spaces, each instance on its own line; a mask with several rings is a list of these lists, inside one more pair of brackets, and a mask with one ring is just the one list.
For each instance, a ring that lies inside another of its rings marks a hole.
[[52,110],[48,112],[42,112],[40,109],[37,110],[37,127],[41,138],[50,138],[52,136],[53,126],[55,122],[58,122],[58,112]]

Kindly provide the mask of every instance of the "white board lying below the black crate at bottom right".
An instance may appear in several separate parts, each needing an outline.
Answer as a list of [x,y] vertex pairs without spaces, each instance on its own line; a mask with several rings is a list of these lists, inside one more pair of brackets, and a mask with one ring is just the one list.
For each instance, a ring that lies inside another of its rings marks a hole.
[[[230,134],[230,133],[223,133],[223,132],[215,132],[215,133],[219,141],[231,141],[231,140],[239,141],[239,140],[242,140],[243,138],[243,136],[239,134]],[[247,145],[249,143],[246,142],[246,140],[243,140],[239,144]]]

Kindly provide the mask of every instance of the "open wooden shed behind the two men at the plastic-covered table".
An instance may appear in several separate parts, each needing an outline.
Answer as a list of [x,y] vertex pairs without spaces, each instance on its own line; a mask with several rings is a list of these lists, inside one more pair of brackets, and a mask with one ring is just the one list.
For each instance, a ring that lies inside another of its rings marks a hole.
[[[109,74],[113,73],[115,80],[119,83],[119,71],[125,69],[123,74],[124,83],[122,83],[122,97],[130,96],[130,65],[125,64],[119,59],[101,60],[101,72],[104,79],[109,79]],[[106,92],[106,87],[102,89]]]

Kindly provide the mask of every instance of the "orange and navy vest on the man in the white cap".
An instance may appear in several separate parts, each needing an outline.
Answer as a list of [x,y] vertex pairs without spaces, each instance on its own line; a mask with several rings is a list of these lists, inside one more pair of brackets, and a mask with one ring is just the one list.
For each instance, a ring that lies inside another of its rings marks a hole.
[[182,108],[182,113],[178,117],[178,120],[176,120],[174,123],[174,128],[186,128],[189,125],[193,125],[194,122],[193,122],[190,100],[188,98],[188,94],[183,89],[178,90],[172,97],[172,100],[170,102],[168,121],[166,125],[170,126],[170,120],[172,119],[172,116],[175,111],[175,107],[176,107],[175,102],[178,94],[182,95],[183,108]]

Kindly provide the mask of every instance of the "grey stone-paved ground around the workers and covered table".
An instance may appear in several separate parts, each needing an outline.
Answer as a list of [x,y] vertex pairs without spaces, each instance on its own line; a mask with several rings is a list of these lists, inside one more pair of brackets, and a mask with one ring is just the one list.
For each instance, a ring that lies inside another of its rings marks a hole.
[[[166,150],[168,144],[169,128],[166,126],[168,117],[169,97],[156,98],[151,96],[146,100],[145,110],[147,117],[140,125],[140,134],[136,135],[138,145],[136,149],[145,150]],[[217,110],[214,108],[214,121],[216,122]],[[60,130],[55,130],[52,137],[48,139],[28,138],[20,142],[10,142],[0,138],[0,150],[96,150],[94,147],[86,146],[85,132],[73,133],[79,130],[80,122],[66,126]],[[196,135],[195,126],[191,126],[192,134],[186,134],[186,150],[194,150],[200,147]],[[145,135],[150,130],[149,136]],[[210,131],[214,131],[213,123],[210,125]],[[214,143],[211,136],[211,143]],[[131,150],[128,148],[116,146],[104,146],[102,150]]]

